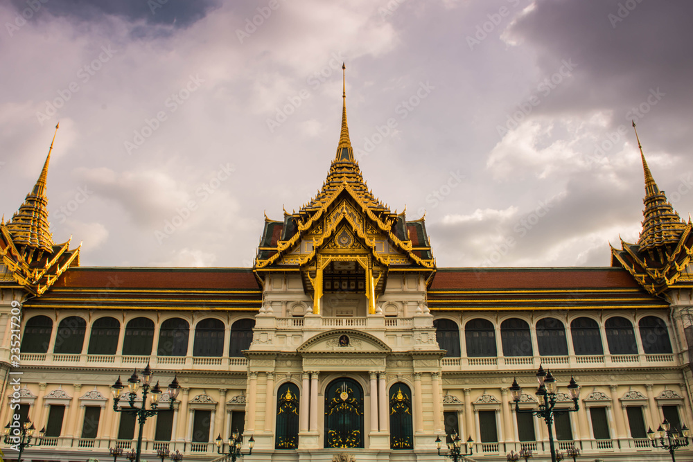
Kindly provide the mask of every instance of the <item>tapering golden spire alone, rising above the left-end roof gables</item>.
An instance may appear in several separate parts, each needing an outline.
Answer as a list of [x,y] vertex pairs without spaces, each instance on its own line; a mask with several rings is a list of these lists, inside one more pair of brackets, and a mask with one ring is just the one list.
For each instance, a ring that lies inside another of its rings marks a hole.
[[10,231],[15,245],[25,245],[47,252],[53,251],[53,236],[51,235],[51,226],[48,222],[46,179],[48,178],[53,142],[55,141],[55,134],[58,133],[59,125],[55,125],[53,141],[51,141],[51,147],[48,150],[48,156],[44,162],[39,179],[31,192],[26,195],[24,204],[19,206],[19,210],[7,224],[7,229]]

